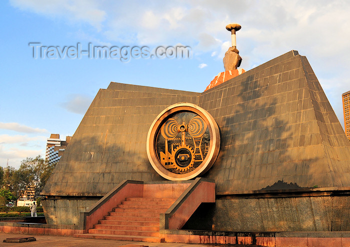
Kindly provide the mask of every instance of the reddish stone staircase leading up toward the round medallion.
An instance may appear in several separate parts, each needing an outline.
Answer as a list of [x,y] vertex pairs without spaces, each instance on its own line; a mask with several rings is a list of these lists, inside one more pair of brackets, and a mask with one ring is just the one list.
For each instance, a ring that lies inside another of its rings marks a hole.
[[159,233],[159,213],[177,198],[129,197],[98,221],[88,233],[76,237],[163,242]]

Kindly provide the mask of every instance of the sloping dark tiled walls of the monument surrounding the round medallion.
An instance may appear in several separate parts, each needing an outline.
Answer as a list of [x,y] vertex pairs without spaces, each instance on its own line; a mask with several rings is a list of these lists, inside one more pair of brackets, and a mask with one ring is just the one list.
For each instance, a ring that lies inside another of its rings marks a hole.
[[202,93],[111,82],[42,193],[97,196],[123,179],[162,180],[147,159],[146,136],[177,102],[199,105],[219,126],[219,156],[204,174],[218,194],[350,186],[350,142],[306,57],[290,51]]

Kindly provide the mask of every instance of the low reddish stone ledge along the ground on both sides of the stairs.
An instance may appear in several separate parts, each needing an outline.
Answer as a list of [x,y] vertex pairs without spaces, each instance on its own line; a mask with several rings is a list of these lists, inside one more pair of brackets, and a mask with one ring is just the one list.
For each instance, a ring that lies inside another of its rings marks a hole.
[[[58,228],[57,228],[58,227]],[[71,225],[22,224],[0,222],[0,232],[32,235],[73,236],[82,230]],[[350,231],[308,232],[231,232],[165,230],[165,242],[200,244],[238,244],[242,246],[350,246]]]

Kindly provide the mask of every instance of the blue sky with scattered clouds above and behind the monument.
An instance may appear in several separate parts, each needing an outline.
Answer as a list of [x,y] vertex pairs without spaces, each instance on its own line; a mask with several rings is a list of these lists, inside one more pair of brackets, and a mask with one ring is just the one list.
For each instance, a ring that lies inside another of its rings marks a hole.
[[[350,2],[9,0],[0,7],[0,165],[44,155],[46,138],[72,135],[99,88],[110,81],[201,92],[223,71],[225,25],[241,24],[237,48],[249,70],[289,50],[305,55],[343,125],[350,90]],[[185,45],[190,58],[87,56],[34,59],[45,46]]]

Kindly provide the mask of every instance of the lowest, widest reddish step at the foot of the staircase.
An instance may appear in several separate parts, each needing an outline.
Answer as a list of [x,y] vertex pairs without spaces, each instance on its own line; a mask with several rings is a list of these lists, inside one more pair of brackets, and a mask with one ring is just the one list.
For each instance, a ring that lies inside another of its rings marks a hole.
[[81,233],[74,234],[75,237],[95,238],[95,239],[111,239],[111,240],[125,240],[125,241],[140,241],[140,242],[164,242],[162,237],[152,236],[126,236],[126,235],[107,235],[107,234],[92,234]]

